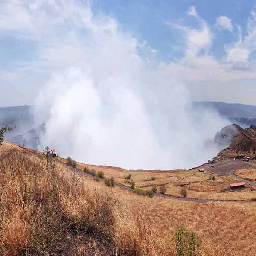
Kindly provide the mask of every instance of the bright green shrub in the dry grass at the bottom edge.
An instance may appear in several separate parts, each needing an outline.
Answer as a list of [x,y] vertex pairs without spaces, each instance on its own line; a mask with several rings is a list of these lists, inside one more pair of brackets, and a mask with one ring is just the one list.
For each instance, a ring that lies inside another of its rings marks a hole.
[[179,227],[175,233],[175,248],[178,256],[199,256],[201,241],[195,233]]

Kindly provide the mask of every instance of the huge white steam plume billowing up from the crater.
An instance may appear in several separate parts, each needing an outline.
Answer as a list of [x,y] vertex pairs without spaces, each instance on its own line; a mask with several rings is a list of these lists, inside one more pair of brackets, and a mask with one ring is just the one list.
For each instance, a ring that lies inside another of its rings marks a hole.
[[[226,121],[214,112],[190,111],[186,86],[163,65],[153,69],[140,57],[140,47],[151,47],[116,20],[94,16],[89,5],[54,3],[44,12],[52,25],[40,49],[52,76],[35,99],[36,122],[46,124],[42,147],[128,169],[188,168],[216,155],[207,142]],[[37,14],[43,8],[32,7]]]

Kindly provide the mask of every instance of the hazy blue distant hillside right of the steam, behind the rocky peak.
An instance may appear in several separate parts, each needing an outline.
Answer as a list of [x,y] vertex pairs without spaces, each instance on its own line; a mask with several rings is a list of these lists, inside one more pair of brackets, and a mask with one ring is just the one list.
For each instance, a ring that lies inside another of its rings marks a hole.
[[[245,119],[256,118],[256,106],[245,105],[238,103],[224,103],[224,102],[192,102],[192,109],[196,108],[209,108],[215,109],[223,116],[230,118],[244,118],[244,122],[247,122]],[[256,120],[250,120],[255,122]],[[250,122],[249,121],[249,122]],[[252,125],[252,123],[250,123]]]

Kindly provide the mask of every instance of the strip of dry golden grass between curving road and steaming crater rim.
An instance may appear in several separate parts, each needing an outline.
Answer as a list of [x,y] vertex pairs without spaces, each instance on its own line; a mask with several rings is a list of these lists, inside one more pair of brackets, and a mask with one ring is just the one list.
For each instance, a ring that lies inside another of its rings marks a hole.
[[[65,163],[65,159],[61,159],[61,161]],[[86,167],[88,170],[102,171],[106,177],[114,177],[116,182],[128,187],[131,186],[131,183],[128,183],[124,176],[131,174],[131,180],[134,181],[137,188],[146,191],[156,187],[160,192],[160,189],[165,185],[165,194],[167,195],[180,196],[182,188],[185,187],[188,198],[245,201],[256,198],[256,190],[251,191],[250,186],[241,191],[230,192],[230,183],[240,182],[238,178],[231,175],[214,175],[215,180],[211,180],[209,173],[199,172],[198,169],[189,171],[184,169],[170,171],[125,170],[119,167],[95,166],[84,163],[78,163],[77,167],[81,170]],[[152,177],[154,177],[153,180]],[[141,194],[139,192],[138,194]]]

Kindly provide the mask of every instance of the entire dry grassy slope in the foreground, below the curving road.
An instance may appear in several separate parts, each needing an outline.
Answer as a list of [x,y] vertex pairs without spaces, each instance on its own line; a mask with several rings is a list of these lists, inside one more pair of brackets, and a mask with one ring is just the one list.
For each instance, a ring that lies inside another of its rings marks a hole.
[[176,256],[180,226],[202,241],[194,255],[256,254],[254,204],[139,197],[20,150],[0,163],[0,255]]

